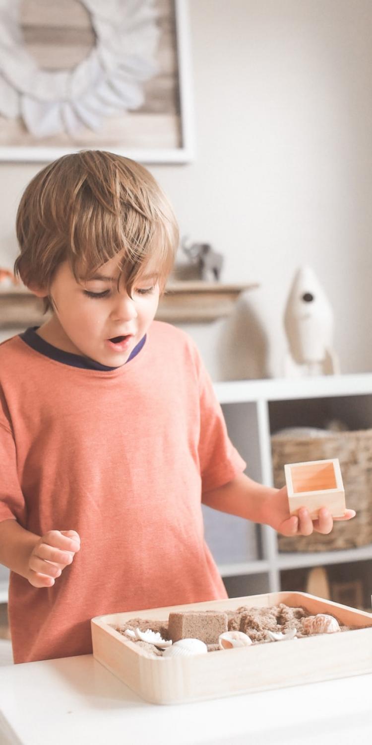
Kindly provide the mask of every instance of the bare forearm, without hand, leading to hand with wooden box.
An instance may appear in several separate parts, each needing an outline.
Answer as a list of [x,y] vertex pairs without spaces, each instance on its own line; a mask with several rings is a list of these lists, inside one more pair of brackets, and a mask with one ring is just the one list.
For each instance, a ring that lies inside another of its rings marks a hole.
[[257,484],[245,474],[240,474],[218,489],[202,495],[202,503],[214,510],[243,517],[251,522],[267,522],[267,504],[277,489]]

